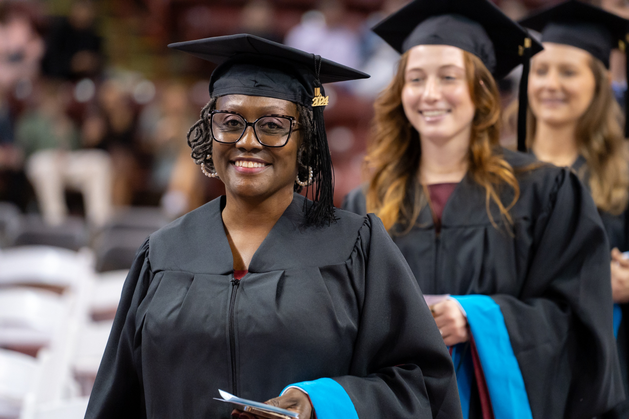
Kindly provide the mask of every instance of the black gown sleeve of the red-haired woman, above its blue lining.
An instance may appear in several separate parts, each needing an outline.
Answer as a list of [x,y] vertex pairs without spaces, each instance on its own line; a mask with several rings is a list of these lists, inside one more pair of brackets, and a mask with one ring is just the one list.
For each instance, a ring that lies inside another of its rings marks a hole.
[[[532,226],[520,296],[496,294],[534,418],[591,418],[623,396],[610,249],[594,202],[562,170]],[[565,413],[564,413],[565,409]]]

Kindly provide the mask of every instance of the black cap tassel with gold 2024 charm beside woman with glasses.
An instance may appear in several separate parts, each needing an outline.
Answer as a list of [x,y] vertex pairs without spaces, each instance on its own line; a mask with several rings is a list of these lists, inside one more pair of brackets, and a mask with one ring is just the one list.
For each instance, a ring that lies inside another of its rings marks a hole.
[[325,133],[325,121],[323,109],[328,104],[328,96],[321,96],[321,82],[319,71],[321,69],[321,56],[315,57],[315,97],[313,98],[313,171],[315,176],[315,189],[313,191],[313,206],[308,210],[308,218],[315,222],[321,220],[334,220],[334,173],[328,137]]

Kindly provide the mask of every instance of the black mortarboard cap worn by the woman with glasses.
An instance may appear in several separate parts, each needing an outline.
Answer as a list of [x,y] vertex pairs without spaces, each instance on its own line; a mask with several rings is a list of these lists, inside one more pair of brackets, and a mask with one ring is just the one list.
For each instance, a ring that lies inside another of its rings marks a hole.
[[247,94],[308,105],[321,83],[369,75],[258,36],[240,34],[171,43],[170,48],[218,64],[210,96]]

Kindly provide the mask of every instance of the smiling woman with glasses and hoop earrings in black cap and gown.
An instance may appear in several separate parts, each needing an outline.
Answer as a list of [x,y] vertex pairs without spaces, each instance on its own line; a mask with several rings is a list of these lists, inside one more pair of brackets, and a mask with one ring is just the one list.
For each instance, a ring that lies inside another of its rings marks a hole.
[[368,76],[252,35],[170,47],[220,64],[188,142],[226,196],[138,250],[86,418],[228,418],[218,389],[300,419],[460,418],[403,256],[375,216],[333,208],[313,104]]

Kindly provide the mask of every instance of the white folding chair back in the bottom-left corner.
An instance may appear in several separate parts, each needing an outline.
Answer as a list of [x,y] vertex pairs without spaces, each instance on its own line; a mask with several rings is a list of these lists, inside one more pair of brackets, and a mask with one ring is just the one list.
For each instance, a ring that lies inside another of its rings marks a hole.
[[0,418],[17,418],[30,390],[38,361],[28,355],[0,349]]

